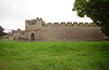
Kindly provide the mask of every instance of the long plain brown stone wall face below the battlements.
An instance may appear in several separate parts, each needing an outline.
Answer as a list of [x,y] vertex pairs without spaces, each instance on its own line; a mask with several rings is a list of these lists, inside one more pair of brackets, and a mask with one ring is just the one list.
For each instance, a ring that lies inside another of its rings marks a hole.
[[83,28],[83,27],[71,27],[71,28],[52,28],[40,30],[43,41],[97,41],[102,40],[99,28]]

